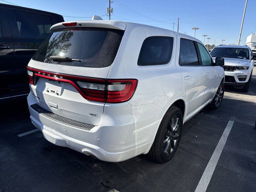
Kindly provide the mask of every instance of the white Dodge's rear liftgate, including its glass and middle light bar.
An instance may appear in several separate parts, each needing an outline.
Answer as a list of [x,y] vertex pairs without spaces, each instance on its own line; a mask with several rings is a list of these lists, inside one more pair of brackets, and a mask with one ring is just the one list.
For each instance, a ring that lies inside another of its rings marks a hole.
[[28,64],[30,90],[40,107],[98,125],[124,30],[79,26],[58,26],[44,41]]

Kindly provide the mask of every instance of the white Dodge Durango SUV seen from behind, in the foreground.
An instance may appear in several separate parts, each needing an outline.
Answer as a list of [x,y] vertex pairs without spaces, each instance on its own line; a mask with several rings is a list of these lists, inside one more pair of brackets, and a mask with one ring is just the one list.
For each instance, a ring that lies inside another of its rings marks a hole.
[[51,27],[28,64],[32,123],[100,160],[175,154],[184,122],[224,94],[223,58],[170,30],[109,20]]

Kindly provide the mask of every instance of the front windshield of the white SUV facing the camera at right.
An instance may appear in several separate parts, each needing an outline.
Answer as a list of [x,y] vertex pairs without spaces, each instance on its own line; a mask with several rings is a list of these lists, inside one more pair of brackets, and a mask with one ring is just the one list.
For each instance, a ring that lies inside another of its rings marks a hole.
[[212,57],[249,59],[249,51],[246,48],[218,47],[214,48],[210,54]]

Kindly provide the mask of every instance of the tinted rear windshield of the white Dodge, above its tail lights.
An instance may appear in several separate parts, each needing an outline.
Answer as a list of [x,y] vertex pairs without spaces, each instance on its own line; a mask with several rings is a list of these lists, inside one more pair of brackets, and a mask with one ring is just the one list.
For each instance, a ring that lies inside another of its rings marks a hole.
[[[40,46],[33,60],[78,67],[107,67],[112,64],[124,31],[104,28],[66,28],[54,31]],[[53,61],[50,57],[80,61]]]

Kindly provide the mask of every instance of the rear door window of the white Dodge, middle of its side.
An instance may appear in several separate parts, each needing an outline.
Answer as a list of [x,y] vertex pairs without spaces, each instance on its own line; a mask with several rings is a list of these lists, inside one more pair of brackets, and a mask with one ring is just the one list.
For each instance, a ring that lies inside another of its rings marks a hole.
[[194,41],[180,39],[180,65],[199,65]]

